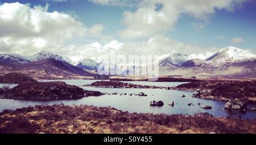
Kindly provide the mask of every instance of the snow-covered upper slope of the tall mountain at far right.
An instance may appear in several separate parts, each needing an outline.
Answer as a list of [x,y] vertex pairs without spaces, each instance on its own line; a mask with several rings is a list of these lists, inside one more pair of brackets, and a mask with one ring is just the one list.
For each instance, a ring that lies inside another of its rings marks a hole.
[[216,65],[225,65],[226,63],[242,62],[249,59],[256,58],[253,53],[247,52],[246,50],[228,46],[221,49],[213,56],[207,58],[207,61],[214,63]]

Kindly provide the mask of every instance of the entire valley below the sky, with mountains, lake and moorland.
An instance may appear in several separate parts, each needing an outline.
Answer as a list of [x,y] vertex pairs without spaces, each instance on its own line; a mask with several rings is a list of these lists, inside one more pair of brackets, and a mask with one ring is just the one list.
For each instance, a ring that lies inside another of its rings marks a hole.
[[[49,52],[1,54],[0,133],[255,133],[255,60],[230,46],[205,60],[172,53],[155,62],[160,76],[150,76],[89,58],[72,65]],[[118,73],[99,75],[104,67]],[[26,129],[13,125],[16,117]],[[135,127],[134,118],[144,123]]]

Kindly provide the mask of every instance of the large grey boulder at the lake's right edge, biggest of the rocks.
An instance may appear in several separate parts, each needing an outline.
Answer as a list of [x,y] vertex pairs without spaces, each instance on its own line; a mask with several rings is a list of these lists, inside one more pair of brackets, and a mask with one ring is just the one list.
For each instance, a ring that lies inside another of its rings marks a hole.
[[225,104],[225,109],[237,109],[243,110],[247,109],[247,103],[241,100],[229,100],[228,103]]

